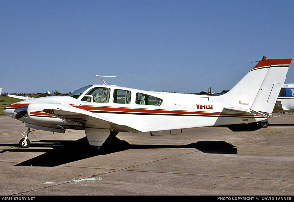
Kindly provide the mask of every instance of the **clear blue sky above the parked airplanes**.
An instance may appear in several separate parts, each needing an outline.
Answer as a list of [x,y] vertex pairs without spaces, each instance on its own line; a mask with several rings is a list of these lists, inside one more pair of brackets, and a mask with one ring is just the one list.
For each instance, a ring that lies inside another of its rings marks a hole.
[[[267,58],[294,59],[294,1],[0,1],[2,92],[107,84],[230,90]],[[285,83],[294,83],[290,65]]]

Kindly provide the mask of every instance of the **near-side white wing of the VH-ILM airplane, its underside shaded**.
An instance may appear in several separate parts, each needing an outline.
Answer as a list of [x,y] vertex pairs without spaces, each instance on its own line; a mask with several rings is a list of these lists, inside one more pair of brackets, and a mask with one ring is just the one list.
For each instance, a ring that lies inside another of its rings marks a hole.
[[[50,104],[49,106],[51,108],[46,108],[43,112],[61,118],[64,120],[65,125],[79,125],[85,128],[113,129],[117,132],[140,132],[134,128],[126,125],[118,125],[103,116],[73,106],[64,106],[60,104]],[[54,106],[54,108],[52,108],[52,106]]]

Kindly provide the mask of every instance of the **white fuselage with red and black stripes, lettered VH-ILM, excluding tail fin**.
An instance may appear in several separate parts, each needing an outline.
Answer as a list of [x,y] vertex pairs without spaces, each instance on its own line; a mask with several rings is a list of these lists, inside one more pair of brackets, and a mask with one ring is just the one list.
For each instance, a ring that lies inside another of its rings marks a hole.
[[[86,94],[93,88],[110,89],[108,102],[93,102],[93,96],[90,95],[88,95],[88,98],[92,100],[86,101]],[[126,99],[124,95],[116,95],[114,92],[117,90],[131,92],[129,101],[124,103],[117,101],[116,99]],[[161,100],[161,103],[159,105],[140,104],[138,103],[138,95],[158,98],[158,100]],[[257,114],[225,110],[224,107],[231,106],[214,102],[214,96],[152,92],[106,85],[90,86],[78,98],[53,96],[20,101],[7,106],[4,109],[4,113],[15,118],[16,112],[14,110],[16,108],[29,105],[27,115],[19,119],[25,123],[50,128],[70,128],[75,125],[73,123],[66,123],[65,119],[43,112],[44,109],[49,108],[48,104],[70,105],[90,111],[117,125],[128,126],[141,132],[251,123],[266,120],[266,118]],[[78,120],[76,125],[79,125]],[[80,129],[85,127],[96,128],[95,125],[83,126],[80,124],[79,126]],[[101,127],[98,126],[97,128]]]

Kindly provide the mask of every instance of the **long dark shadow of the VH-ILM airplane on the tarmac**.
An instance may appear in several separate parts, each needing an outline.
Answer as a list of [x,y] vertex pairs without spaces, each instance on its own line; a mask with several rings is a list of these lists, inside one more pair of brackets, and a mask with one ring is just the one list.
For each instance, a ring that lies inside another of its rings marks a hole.
[[[44,152],[37,157],[26,160],[15,166],[40,166],[54,167],[69,162],[98,155],[106,155],[129,149],[169,149],[169,148],[195,148],[203,153],[211,154],[237,154],[237,148],[224,141],[198,141],[188,145],[132,145],[124,140],[115,138],[107,145],[103,145],[100,150],[91,147],[86,137],[76,141],[51,141],[40,140],[37,143],[31,142],[29,148],[12,148],[0,151],[3,152]],[[17,144],[0,144],[0,146],[19,147]],[[49,149],[49,147],[53,149]]]

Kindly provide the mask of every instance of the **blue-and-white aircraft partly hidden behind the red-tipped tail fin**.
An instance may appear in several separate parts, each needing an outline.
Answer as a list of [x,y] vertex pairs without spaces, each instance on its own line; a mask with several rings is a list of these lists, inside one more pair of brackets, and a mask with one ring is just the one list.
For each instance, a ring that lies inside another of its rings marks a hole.
[[294,84],[283,84],[273,113],[294,112]]

